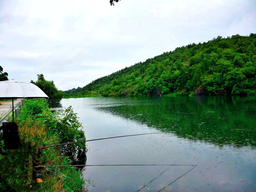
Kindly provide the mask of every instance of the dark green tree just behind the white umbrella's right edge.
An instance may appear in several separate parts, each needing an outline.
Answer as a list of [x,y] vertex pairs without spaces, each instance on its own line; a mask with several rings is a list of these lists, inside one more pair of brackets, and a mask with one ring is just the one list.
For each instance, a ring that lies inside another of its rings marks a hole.
[[62,91],[58,91],[53,81],[46,81],[43,74],[37,75],[35,85],[43,90],[43,92],[49,97],[49,102],[51,103],[58,103],[63,97]]

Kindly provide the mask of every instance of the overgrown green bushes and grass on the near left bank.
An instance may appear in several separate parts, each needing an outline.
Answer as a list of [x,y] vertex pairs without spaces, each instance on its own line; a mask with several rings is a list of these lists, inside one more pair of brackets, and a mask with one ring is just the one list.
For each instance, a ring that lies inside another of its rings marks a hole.
[[[75,167],[45,169],[43,183],[32,178],[33,157],[40,145],[85,140],[81,124],[73,109],[63,114],[53,114],[46,99],[26,99],[16,119],[19,127],[20,147],[4,150],[0,142],[0,188],[3,191],[85,191],[82,173]],[[2,135],[0,134],[2,140]],[[70,165],[86,161],[85,143],[63,148],[40,149],[39,165]],[[71,154],[71,155],[70,155]],[[69,157],[70,155],[70,157]],[[82,159],[79,159],[82,158]]]

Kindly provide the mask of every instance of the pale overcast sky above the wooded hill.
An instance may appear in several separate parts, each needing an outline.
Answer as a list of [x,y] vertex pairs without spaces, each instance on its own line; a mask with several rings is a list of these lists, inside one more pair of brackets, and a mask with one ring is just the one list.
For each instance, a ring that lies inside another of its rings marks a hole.
[[176,47],[256,33],[255,0],[0,0],[0,66],[59,90]]

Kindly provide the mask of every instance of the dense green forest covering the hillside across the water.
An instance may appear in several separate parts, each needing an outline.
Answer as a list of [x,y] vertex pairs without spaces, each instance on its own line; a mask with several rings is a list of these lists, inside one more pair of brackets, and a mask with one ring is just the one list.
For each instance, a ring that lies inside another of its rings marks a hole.
[[256,95],[255,45],[256,34],[218,36],[177,47],[63,95]]

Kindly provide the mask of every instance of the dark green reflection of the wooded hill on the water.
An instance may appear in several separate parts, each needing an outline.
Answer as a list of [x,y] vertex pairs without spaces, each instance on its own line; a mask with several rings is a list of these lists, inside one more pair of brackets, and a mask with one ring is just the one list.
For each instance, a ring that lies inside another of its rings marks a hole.
[[97,110],[192,141],[256,146],[255,97],[129,98]]

